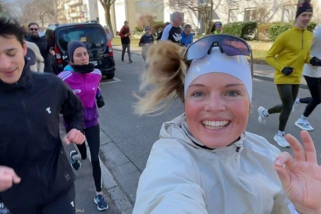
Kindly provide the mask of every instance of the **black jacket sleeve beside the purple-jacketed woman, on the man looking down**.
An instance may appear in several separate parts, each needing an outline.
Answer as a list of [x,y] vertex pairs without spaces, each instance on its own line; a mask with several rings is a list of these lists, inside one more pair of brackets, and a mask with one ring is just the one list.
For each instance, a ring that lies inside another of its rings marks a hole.
[[63,114],[68,129],[75,128],[79,131],[83,131],[84,113],[81,101],[64,82],[61,81],[61,83],[65,96],[60,113]]

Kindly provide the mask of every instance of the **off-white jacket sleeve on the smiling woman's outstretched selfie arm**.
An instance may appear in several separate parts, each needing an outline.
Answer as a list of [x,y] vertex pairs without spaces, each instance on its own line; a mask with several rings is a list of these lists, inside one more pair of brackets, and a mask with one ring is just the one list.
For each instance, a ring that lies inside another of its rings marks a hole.
[[178,152],[188,151],[169,140],[153,145],[139,178],[133,214],[208,214],[196,167]]

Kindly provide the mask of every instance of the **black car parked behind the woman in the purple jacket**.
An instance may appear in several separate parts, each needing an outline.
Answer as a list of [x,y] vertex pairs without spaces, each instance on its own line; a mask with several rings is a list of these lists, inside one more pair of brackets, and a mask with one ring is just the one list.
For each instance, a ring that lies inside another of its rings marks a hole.
[[63,71],[69,63],[67,46],[71,41],[83,42],[88,50],[89,61],[99,69],[102,75],[111,79],[115,75],[115,61],[110,41],[107,43],[106,33],[97,22],[54,24],[46,30],[49,47],[56,52],[58,72]]

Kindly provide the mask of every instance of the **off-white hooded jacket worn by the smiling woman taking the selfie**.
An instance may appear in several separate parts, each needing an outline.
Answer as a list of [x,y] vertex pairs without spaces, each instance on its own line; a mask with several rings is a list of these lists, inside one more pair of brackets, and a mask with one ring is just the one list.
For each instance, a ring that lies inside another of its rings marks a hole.
[[185,114],[163,124],[139,178],[134,214],[297,213],[273,168],[280,151],[266,139],[246,132],[223,148],[197,144]]

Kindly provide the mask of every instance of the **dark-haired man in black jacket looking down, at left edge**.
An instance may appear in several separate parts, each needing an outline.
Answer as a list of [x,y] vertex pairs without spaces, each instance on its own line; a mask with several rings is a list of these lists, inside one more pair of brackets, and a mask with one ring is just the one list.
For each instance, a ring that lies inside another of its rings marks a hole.
[[[75,213],[62,141],[83,143],[81,101],[55,75],[31,72],[25,31],[0,16],[0,198],[12,214]],[[71,130],[60,139],[59,114]]]

